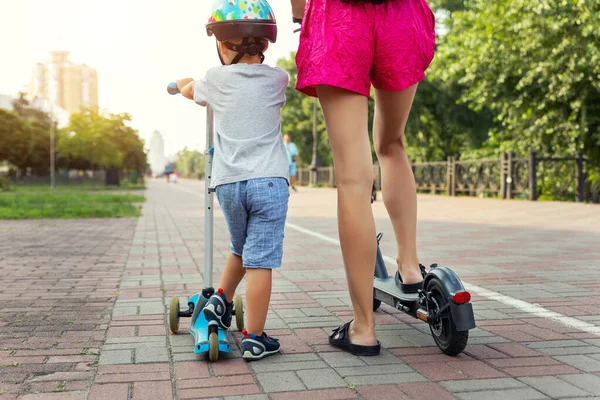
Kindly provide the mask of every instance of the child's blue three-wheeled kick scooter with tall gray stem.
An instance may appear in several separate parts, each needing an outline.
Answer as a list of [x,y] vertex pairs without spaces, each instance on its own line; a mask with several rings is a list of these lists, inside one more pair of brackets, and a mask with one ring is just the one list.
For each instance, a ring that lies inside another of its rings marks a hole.
[[[177,84],[170,83],[167,92],[172,95],[179,93]],[[212,284],[213,269],[213,189],[210,187],[213,148],[214,115],[210,106],[206,110],[206,150],[204,151],[206,187],[204,189],[204,289],[194,294],[187,301],[187,310],[181,311],[179,297],[171,299],[169,309],[169,328],[174,334],[179,332],[180,318],[191,318],[189,333],[194,338],[194,352],[205,355],[210,361],[217,361],[219,353],[231,353],[225,330],[219,328],[216,321],[207,321],[202,313],[208,299],[215,293]],[[233,314],[237,328],[244,329],[243,303],[240,296],[235,296]]]

